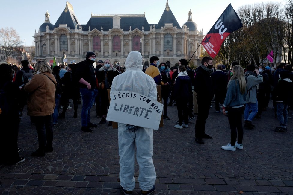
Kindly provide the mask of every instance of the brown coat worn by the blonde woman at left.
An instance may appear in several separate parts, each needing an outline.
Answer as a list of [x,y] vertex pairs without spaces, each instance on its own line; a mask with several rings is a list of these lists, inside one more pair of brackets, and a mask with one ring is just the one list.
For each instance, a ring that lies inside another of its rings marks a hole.
[[[49,76],[54,83],[45,75]],[[28,92],[28,115],[47,116],[54,112],[56,79],[49,72],[35,74],[25,85],[24,89]]]

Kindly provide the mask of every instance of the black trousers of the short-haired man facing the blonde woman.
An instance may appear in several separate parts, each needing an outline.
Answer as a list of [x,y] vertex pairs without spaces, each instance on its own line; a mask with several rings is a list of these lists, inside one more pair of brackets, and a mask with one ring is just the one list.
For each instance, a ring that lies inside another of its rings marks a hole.
[[209,109],[211,107],[211,101],[199,101],[198,105],[198,115],[195,122],[195,137],[202,138],[205,134],[206,119],[209,116]]

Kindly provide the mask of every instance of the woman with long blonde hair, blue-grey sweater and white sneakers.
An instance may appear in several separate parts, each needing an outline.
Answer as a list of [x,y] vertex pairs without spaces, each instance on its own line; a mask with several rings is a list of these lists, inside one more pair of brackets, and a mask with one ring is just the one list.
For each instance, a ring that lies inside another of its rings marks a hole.
[[[235,151],[236,148],[243,149],[242,113],[246,100],[246,82],[243,68],[240,65],[234,66],[230,74],[232,77],[227,86],[227,94],[223,105],[223,114],[225,115],[225,111],[228,110],[231,142],[226,146],[222,146],[222,149]],[[237,132],[238,141],[236,141]]]

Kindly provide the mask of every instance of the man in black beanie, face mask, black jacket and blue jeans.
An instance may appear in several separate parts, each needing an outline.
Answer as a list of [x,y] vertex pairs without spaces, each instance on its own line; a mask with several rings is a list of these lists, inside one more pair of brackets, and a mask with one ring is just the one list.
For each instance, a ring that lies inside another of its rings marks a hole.
[[95,102],[98,94],[95,69],[93,63],[96,60],[96,54],[87,52],[86,59],[76,64],[74,79],[78,82],[82,97],[81,109],[81,130],[84,132],[92,132],[90,127],[97,127],[96,124],[90,122],[90,109]]

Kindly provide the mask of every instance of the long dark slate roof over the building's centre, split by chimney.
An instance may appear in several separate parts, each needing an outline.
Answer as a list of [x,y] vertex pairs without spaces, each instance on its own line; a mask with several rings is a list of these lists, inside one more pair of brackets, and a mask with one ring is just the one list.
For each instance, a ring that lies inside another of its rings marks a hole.
[[[103,31],[108,31],[113,28],[113,16],[105,17],[102,15],[95,15],[90,18],[87,24],[82,29],[83,31],[88,31],[88,27],[90,30],[96,28],[101,31],[101,27],[103,27]],[[142,26],[144,26],[145,31],[149,31],[149,23],[144,15],[118,15],[120,17],[120,28],[124,31],[129,31],[129,26],[131,26],[131,30],[138,28],[142,30]]]

